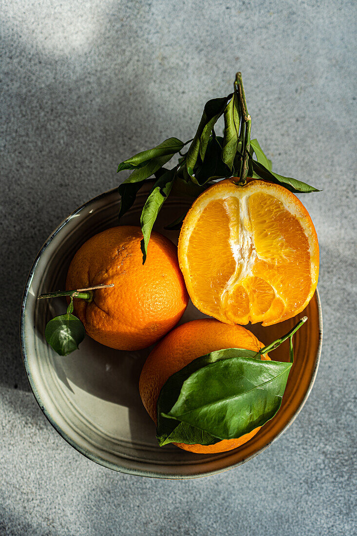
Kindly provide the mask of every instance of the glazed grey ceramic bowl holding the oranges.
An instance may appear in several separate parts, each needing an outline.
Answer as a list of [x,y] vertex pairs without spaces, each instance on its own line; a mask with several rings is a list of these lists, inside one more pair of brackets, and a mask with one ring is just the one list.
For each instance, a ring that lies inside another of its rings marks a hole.
[[[122,224],[139,224],[145,190]],[[81,206],[49,236],[36,258],[25,287],[21,312],[21,345],[29,384],[44,415],[75,449],[96,463],[145,477],[187,479],[226,471],[262,452],[291,425],[309,396],[317,373],[322,343],[322,316],[318,293],[306,310],[281,324],[251,326],[268,344],[286,333],[303,315],[308,322],[295,336],[295,362],[278,414],[240,448],[217,455],[197,455],[168,445],[160,448],[155,426],[138,392],[140,371],[150,348],[119,352],[86,337],[80,349],[66,357],[53,352],[44,339],[51,316],[62,314],[62,299],[36,300],[42,293],[65,288],[65,277],[75,252],[88,238],[117,225],[117,190],[103,193]],[[188,207],[188,200],[169,198],[155,229],[177,242],[178,234],[165,231]],[[181,322],[203,317],[189,304]],[[287,343],[274,352],[286,361]]]

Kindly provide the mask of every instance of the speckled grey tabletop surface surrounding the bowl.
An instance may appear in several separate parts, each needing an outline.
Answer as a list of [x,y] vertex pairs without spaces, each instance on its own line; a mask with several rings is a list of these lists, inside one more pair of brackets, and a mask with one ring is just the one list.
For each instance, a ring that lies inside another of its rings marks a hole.
[[[3,0],[0,219],[1,534],[353,534],[356,523],[354,2]],[[116,165],[192,136],[243,72],[252,135],[303,197],[321,244],[324,345],[293,426],[234,471],[116,474],[42,415],[18,317],[32,261]]]

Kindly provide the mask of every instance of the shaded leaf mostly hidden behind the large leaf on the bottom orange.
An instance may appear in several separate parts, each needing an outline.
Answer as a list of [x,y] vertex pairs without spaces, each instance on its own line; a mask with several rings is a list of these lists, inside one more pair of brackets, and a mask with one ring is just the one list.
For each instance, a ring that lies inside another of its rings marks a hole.
[[[179,423],[177,420],[168,418],[165,415],[167,415],[174,406],[180,396],[183,383],[191,374],[195,373],[200,368],[206,367],[210,363],[214,363],[221,359],[228,359],[236,355],[251,359],[260,358],[260,355],[257,354],[257,352],[245,348],[228,348],[203,355],[202,357],[191,361],[186,367],[168,378],[158,399],[157,439],[160,446],[166,445],[167,443],[198,443],[201,445],[212,445],[220,441],[218,437],[204,433],[199,427],[192,427],[189,423],[185,422]],[[190,442],[188,442],[188,437],[190,438]]]

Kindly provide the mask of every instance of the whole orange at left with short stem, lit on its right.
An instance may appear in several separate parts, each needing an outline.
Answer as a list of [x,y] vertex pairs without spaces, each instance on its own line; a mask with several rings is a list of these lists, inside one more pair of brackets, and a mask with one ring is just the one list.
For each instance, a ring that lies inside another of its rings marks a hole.
[[69,267],[67,290],[114,284],[95,290],[91,303],[73,300],[87,334],[110,348],[132,351],[154,344],[188,304],[175,245],[151,233],[143,265],[142,239],[139,227],[106,229],[83,244]]

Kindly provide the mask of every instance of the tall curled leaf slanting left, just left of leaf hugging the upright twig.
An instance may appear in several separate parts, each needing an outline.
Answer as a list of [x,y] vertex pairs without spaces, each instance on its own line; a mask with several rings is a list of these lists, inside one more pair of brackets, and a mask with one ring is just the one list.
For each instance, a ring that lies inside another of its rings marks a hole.
[[197,132],[191,142],[186,156],[186,169],[190,177],[192,177],[198,155],[200,155],[202,161],[204,160],[207,144],[209,143],[213,126],[222,113],[224,113],[227,101],[231,98],[231,96],[232,93],[227,97],[212,99],[206,102]]

